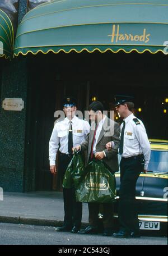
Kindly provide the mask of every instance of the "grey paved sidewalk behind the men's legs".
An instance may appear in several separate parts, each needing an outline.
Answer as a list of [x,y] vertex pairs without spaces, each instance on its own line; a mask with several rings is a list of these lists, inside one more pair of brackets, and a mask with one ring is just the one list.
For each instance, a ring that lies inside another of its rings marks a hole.
[[[5,192],[0,201],[0,222],[61,226],[63,218],[62,192]],[[82,223],[85,226],[87,222],[88,207],[83,203]]]

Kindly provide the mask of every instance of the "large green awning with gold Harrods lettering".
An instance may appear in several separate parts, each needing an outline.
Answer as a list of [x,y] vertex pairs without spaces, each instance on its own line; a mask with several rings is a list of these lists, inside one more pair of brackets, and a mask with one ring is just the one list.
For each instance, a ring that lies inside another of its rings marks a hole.
[[53,0],[25,15],[14,53],[157,53],[167,41],[167,0]]

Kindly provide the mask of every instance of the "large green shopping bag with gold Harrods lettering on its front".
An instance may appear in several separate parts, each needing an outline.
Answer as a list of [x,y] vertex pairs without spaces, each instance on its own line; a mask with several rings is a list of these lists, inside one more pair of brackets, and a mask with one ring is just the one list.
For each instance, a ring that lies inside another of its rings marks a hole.
[[103,161],[93,160],[87,165],[85,172],[85,177],[76,188],[77,202],[115,202],[115,175],[108,170],[108,166]]

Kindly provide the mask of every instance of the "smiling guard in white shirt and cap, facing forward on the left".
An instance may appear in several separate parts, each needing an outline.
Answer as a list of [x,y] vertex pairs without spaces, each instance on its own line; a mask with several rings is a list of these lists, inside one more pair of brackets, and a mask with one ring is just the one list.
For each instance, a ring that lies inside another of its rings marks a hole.
[[[68,164],[73,157],[72,148],[85,141],[87,134],[90,132],[88,122],[74,115],[77,108],[76,100],[73,97],[65,98],[63,106],[66,118],[55,123],[49,141],[50,172],[57,173],[55,158],[59,149],[58,170],[62,182]],[[64,224],[62,227],[57,228],[57,231],[77,233],[81,228],[82,203],[76,202],[74,189],[63,188],[63,200]]]

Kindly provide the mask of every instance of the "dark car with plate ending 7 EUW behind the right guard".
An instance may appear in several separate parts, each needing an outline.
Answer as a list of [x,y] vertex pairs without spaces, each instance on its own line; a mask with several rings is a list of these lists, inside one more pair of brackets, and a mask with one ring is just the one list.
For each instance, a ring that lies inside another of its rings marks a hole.
[[[136,185],[136,199],[140,231],[167,235],[167,172],[168,140],[150,139],[151,159],[147,173],[141,173]],[[118,218],[120,172],[116,177],[114,217]]]

